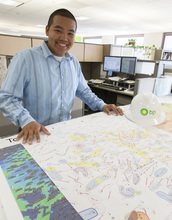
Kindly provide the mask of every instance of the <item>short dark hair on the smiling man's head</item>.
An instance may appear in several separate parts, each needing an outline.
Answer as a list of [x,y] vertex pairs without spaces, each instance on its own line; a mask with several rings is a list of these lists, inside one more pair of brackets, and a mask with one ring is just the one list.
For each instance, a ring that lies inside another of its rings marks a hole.
[[[50,27],[50,26],[52,25],[52,23],[53,23],[53,18],[54,18],[54,16],[56,16],[56,15],[60,15],[60,16],[63,16],[63,17],[66,17],[66,18],[70,18],[70,19],[74,20],[74,21],[75,21],[75,24],[76,24],[76,29],[77,29],[77,21],[76,21],[74,15],[73,15],[70,11],[68,11],[67,9],[65,9],[65,8],[57,9],[56,11],[54,11],[54,12],[50,15],[50,17],[49,17],[49,19],[48,19],[48,24],[47,24],[48,27]],[[75,30],[75,31],[76,31],[76,30]]]

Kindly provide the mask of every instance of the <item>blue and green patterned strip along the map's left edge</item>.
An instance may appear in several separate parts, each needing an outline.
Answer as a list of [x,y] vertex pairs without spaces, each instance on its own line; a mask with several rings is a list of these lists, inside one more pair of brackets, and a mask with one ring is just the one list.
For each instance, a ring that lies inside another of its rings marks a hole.
[[21,144],[0,149],[0,166],[24,219],[82,219]]

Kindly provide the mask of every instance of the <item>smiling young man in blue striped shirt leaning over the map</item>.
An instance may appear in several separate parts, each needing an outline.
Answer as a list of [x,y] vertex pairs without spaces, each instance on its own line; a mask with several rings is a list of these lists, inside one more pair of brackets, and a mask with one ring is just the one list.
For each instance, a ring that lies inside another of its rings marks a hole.
[[0,90],[0,110],[22,130],[17,140],[40,141],[44,127],[71,119],[75,96],[92,110],[123,115],[120,108],[106,105],[88,87],[76,58],[68,53],[74,44],[77,22],[66,9],[54,11],[46,26],[48,41],[17,53]]

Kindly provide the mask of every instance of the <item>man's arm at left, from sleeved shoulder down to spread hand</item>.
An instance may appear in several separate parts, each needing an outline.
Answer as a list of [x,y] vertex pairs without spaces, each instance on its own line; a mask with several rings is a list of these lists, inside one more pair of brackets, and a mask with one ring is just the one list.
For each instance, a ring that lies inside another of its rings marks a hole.
[[13,124],[22,128],[17,140],[23,137],[23,143],[31,144],[34,137],[40,141],[40,131],[48,135],[49,132],[22,105],[24,87],[29,81],[27,69],[29,68],[23,56],[13,58],[0,90],[0,110]]

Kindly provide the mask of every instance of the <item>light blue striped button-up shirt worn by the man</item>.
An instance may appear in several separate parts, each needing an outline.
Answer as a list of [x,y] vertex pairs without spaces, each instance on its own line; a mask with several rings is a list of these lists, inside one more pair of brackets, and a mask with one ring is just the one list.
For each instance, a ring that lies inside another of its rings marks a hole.
[[71,119],[75,96],[94,111],[105,105],[87,85],[78,60],[66,53],[58,61],[44,42],[13,57],[0,90],[0,110],[22,128],[31,121],[45,126]]

